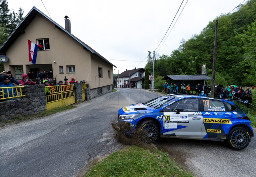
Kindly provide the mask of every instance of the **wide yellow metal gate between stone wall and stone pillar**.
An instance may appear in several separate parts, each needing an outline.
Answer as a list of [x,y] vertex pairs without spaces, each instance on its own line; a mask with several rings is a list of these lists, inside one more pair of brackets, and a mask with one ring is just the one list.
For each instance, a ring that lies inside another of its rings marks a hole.
[[46,96],[46,108],[52,110],[75,103],[74,85],[46,86],[45,93],[50,91]]

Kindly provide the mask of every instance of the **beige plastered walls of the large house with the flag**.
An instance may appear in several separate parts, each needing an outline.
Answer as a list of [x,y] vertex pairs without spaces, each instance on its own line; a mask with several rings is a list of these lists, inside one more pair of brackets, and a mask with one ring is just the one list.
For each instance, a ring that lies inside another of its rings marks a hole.
[[[54,78],[56,76],[57,82],[64,81],[64,77],[67,76],[68,81],[71,78],[75,78],[77,81],[87,81],[89,88],[113,84],[112,65],[94,54],[91,55],[91,52],[84,50],[83,46],[66,32],[56,29],[51,21],[38,14],[25,29],[26,33],[22,33],[6,51],[9,60],[4,64],[5,70],[11,70],[15,77],[13,66],[23,66],[24,73],[28,73],[29,68],[50,70],[52,67],[53,75]],[[47,38],[49,38],[50,50],[38,51],[36,65],[29,63],[28,39],[37,43],[36,39]],[[54,63],[53,61],[56,62]],[[75,66],[76,73],[67,73],[66,66],[68,65]],[[63,74],[59,72],[59,66],[63,66]],[[99,66],[103,68],[103,78],[98,77]],[[45,67],[49,67],[49,69],[45,69]],[[111,72],[110,79],[108,79],[108,70]]]

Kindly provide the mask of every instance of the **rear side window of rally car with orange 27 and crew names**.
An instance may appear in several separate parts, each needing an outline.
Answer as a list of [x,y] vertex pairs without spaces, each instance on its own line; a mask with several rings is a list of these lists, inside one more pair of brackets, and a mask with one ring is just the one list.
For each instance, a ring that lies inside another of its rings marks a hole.
[[204,111],[226,111],[223,102],[211,99],[203,99],[203,107]]

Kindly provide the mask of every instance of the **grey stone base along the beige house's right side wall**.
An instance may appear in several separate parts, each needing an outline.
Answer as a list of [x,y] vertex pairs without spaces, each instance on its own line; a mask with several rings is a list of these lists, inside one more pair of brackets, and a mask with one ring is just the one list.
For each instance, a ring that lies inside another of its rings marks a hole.
[[[101,93],[98,93],[98,90],[100,91],[101,89]],[[94,88],[94,89],[90,89],[90,88],[86,88],[85,89],[85,97],[86,100],[91,100],[93,98],[96,98],[98,96],[104,95],[106,93],[112,92],[113,89],[113,85],[108,85],[108,86],[104,86],[104,87],[99,87],[99,88]]]

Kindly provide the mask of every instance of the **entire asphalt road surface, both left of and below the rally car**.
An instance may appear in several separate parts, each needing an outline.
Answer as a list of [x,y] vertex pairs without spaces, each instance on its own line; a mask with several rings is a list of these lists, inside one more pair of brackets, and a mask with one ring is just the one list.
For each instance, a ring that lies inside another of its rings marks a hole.
[[[122,147],[110,124],[117,110],[156,96],[160,94],[120,88],[76,109],[0,128],[0,176],[77,175],[94,157]],[[255,137],[241,151],[222,142],[186,139],[165,138],[156,145],[195,176],[256,176]]]

